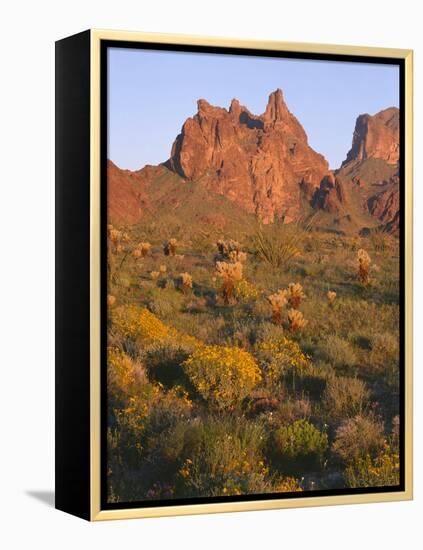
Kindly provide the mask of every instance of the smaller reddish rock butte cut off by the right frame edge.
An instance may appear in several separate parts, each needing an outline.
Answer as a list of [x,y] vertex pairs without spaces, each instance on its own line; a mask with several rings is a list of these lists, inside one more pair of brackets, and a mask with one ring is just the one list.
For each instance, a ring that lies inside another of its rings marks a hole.
[[343,164],[368,158],[383,159],[388,164],[398,162],[399,109],[396,107],[357,118],[352,147]]

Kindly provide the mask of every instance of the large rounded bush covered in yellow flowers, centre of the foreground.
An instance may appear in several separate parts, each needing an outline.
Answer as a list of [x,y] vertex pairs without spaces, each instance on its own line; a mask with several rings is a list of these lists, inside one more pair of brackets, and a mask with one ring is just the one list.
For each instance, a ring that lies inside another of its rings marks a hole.
[[203,346],[183,368],[197,392],[219,409],[240,403],[261,380],[254,357],[237,347]]

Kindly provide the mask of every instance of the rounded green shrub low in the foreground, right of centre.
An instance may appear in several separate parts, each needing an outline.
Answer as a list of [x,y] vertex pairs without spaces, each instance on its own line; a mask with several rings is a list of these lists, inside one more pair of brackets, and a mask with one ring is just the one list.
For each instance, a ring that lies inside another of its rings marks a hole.
[[297,420],[273,433],[276,463],[286,472],[316,466],[328,447],[328,436],[307,420]]

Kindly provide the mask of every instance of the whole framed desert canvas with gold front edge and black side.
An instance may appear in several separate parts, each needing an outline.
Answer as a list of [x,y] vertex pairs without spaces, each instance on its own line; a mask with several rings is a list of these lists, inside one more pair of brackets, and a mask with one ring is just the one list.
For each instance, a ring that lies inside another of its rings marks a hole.
[[56,506],[412,498],[412,52],[56,43]]

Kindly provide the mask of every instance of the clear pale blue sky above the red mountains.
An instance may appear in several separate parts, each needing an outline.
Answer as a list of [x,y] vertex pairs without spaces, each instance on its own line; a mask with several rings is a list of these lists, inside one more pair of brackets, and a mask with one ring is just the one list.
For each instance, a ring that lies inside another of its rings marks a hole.
[[281,88],[331,168],[345,159],[359,114],[399,105],[396,65],[110,48],[108,76],[108,157],[131,170],[169,158],[199,98],[229,108],[236,97],[261,114]]

